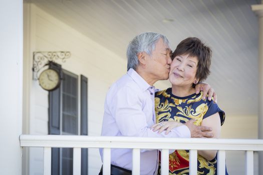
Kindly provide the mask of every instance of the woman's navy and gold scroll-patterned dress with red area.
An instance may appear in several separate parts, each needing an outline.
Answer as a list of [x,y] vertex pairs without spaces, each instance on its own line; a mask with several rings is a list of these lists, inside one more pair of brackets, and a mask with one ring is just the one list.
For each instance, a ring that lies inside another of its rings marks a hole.
[[[196,119],[194,124],[201,125],[202,120],[218,112],[221,125],[225,114],[213,101],[202,99],[203,93],[179,97],[172,94],[171,88],[155,93],[156,122],[175,120],[185,123]],[[210,161],[198,155],[197,174],[215,175],[217,172],[216,157]],[[159,168],[160,171],[160,168]],[[226,170],[225,170],[226,171]],[[169,174],[189,174],[189,150],[175,150],[169,155]],[[226,173],[227,174],[227,171]]]

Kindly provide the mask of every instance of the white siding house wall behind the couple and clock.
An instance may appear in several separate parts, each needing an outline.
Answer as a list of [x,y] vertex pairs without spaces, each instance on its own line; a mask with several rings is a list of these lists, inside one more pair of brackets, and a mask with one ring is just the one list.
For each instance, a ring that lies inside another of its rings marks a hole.
[[[106,92],[111,83],[126,72],[126,59],[33,4],[25,5],[24,17],[23,132],[48,133],[48,92],[39,86],[38,81],[32,80],[33,51],[69,50],[72,56],[65,63],[59,63],[64,69],[88,77],[89,135],[100,135]],[[155,85],[158,88],[166,87],[163,82]],[[257,138],[256,121],[256,116],[227,115],[221,137]],[[42,174],[43,149],[31,148],[30,154],[26,154],[30,158],[26,163],[28,166],[24,164],[24,174]],[[226,158],[230,174],[244,174],[244,153],[227,152]],[[89,174],[97,174],[100,166],[98,149],[89,149]]]

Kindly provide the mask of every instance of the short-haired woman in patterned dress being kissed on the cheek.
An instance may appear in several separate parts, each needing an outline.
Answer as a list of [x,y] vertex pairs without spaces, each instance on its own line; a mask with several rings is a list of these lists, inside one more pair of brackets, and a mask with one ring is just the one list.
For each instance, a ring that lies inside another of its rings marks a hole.
[[[196,125],[212,127],[214,138],[219,138],[225,114],[213,100],[195,93],[195,84],[210,73],[211,49],[196,37],[182,40],[172,54],[169,73],[171,88],[156,92],[156,121],[154,130],[167,132],[187,120]],[[177,121],[177,122],[174,122]],[[216,150],[198,150],[197,174],[216,174]],[[169,155],[169,174],[189,174],[189,151],[175,150]],[[227,172],[226,172],[227,174]]]

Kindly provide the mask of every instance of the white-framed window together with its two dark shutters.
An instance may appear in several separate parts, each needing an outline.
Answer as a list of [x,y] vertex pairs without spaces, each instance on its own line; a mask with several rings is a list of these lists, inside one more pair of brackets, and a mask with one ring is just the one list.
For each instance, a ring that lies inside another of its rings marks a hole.
[[[61,69],[59,64],[54,67],[61,70],[60,87],[49,93],[49,134],[87,135],[87,77],[79,76]],[[79,102],[80,101],[80,102]],[[80,104],[79,104],[80,103]],[[79,105],[81,107],[79,115]],[[80,122],[79,122],[80,120]],[[82,149],[81,174],[88,174],[88,150]],[[52,175],[73,174],[73,148],[52,148]]]

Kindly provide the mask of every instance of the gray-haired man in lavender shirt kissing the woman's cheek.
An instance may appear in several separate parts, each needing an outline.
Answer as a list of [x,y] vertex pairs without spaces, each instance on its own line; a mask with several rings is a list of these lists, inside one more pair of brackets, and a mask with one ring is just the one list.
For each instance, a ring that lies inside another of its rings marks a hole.
[[[211,128],[196,126],[193,121],[158,133],[151,126],[155,123],[153,84],[168,78],[171,49],[165,36],[145,32],[135,36],[127,48],[128,72],[110,87],[106,100],[102,124],[104,136],[140,137],[210,137]],[[209,85],[196,86],[209,89]],[[210,97],[213,90],[209,90]],[[209,98],[210,98],[209,97]],[[100,149],[101,157],[103,150]],[[140,174],[156,174],[158,150],[141,150]],[[111,149],[111,174],[131,174],[132,149]],[[102,174],[102,171],[100,172]]]

